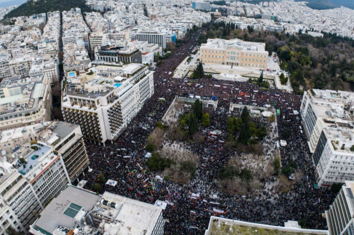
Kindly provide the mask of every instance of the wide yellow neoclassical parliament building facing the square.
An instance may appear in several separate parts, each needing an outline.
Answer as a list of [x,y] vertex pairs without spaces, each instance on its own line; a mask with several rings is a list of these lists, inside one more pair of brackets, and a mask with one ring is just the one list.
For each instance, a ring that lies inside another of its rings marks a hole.
[[267,68],[265,43],[244,42],[239,39],[208,39],[200,47],[200,61],[205,64],[225,64],[259,69]]

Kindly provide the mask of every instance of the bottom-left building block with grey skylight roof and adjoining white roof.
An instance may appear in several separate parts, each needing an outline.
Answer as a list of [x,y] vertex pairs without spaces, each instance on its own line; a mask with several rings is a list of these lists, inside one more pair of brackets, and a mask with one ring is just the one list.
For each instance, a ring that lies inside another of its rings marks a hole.
[[66,188],[31,225],[34,235],[62,234],[162,235],[162,208],[113,193],[103,195]]

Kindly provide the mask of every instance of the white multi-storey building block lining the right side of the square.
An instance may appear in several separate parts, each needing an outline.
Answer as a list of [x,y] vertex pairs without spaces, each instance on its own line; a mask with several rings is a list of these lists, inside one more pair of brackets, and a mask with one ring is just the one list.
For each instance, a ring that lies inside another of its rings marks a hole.
[[300,113],[319,187],[354,180],[354,93],[305,91]]

